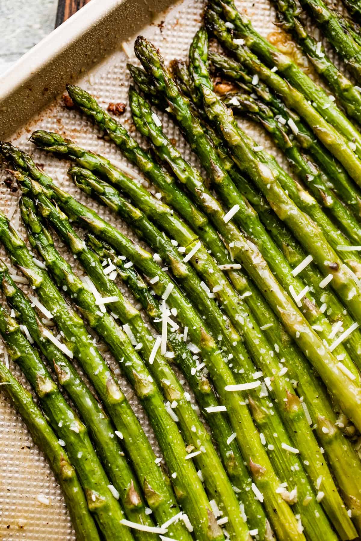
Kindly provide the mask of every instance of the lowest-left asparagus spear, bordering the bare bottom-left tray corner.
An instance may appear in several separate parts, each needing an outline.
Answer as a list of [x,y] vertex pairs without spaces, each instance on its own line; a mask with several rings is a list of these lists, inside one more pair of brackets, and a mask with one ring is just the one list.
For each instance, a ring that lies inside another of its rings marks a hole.
[[[11,351],[9,353],[11,355]],[[100,537],[89,512],[86,497],[67,453],[34,403],[31,394],[19,384],[2,362],[0,362],[0,383],[2,391],[9,396],[15,409],[24,419],[32,440],[40,448],[55,474],[63,491],[76,538],[79,541],[99,541]]]

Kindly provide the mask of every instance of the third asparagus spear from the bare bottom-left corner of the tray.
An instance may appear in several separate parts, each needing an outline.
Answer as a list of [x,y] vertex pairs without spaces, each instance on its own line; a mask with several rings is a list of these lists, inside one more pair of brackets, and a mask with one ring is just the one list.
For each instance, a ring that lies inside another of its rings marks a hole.
[[[124,458],[119,439],[102,406],[78,376],[68,358],[54,344],[54,339],[49,339],[50,331],[43,327],[29,300],[21,289],[16,286],[8,268],[2,263],[0,263],[0,284],[6,300],[15,309],[16,314],[18,314],[22,324],[27,327],[36,345],[41,349],[49,363],[54,364],[58,381],[68,392],[80,412],[96,445],[96,451],[108,472],[111,483],[120,494],[120,500],[128,520],[152,526],[153,521],[145,513],[145,505],[137,481],[128,466],[126,458]],[[134,530],[134,536],[140,539],[140,532]],[[155,535],[152,533],[141,533],[142,540],[154,538]]]

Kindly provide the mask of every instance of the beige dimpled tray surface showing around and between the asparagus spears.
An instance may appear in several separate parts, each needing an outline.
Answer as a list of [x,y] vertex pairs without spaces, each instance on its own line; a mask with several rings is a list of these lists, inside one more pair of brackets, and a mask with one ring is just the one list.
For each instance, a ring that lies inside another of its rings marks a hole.
[[[242,4],[238,5],[247,12],[255,29],[262,35],[267,36],[270,32],[277,30],[273,24],[276,20],[275,12],[267,0],[259,0],[257,3],[253,0],[243,0]],[[152,24],[143,29],[142,33],[160,48],[167,63],[175,57],[186,57],[191,39],[201,23],[203,7],[204,3],[200,0],[185,0],[157,16]],[[126,63],[135,62],[133,41],[134,39],[130,39],[126,47],[120,48],[107,61],[88,72],[79,81],[79,84],[93,94],[103,107],[107,107],[109,102],[127,103],[128,101],[127,92],[130,77]],[[286,43],[285,46],[289,47],[290,44],[287,46]],[[162,115],[160,117],[162,118]],[[180,150],[193,161],[194,157],[191,156],[173,123],[169,122],[167,117],[162,120],[164,120],[168,135],[178,141]],[[130,119],[129,107],[121,117],[121,122],[135,137],[139,137],[135,133]],[[242,122],[242,126],[258,141],[261,141],[265,149],[277,154],[271,141],[257,126],[247,122]],[[117,219],[108,209],[97,206],[74,187],[66,173],[69,163],[35,150],[34,146],[28,142],[30,133],[38,128],[58,131],[73,138],[81,146],[104,154],[111,160],[124,162],[120,151],[116,149],[114,144],[104,140],[100,131],[76,111],[66,109],[61,96],[12,137],[12,141],[29,151],[35,161],[41,164],[62,188],[76,194],[81,201],[86,202],[88,206],[93,206],[103,217],[132,237],[133,235],[120,219]],[[287,167],[284,160],[280,156],[278,157]],[[132,168],[130,164],[128,166]],[[4,170],[0,171],[0,208],[6,214],[10,209],[16,207],[11,222],[25,238],[25,231],[17,209],[19,190],[11,192],[4,186],[3,181],[8,178],[9,175]],[[140,181],[142,181],[141,178]],[[146,185],[148,184],[146,183]],[[10,210],[10,212],[12,211]],[[56,237],[55,242],[72,265],[75,265],[75,260],[69,258],[69,253]],[[0,249],[0,256],[4,255],[3,250]],[[81,274],[81,269],[76,266],[75,268],[78,274]],[[0,359],[3,359],[2,344],[0,344]],[[14,366],[11,366],[11,369],[28,386],[19,370]],[[152,431],[132,390],[123,380],[121,380],[121,384],[156,448]],[[38,501],[40,494],[49,497],[51,505],[41,504]],[[75,539],[69,515],[54,476],[42,454],[32,443],[26,426],[3,394],[0,394],[0,539],[7,541],[15,539],[29,541]]]

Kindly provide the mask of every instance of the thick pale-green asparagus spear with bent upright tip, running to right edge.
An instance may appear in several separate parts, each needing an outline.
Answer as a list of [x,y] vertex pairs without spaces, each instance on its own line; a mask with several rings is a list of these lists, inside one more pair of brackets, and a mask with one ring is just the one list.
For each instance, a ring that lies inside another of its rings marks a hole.
[[[361,298],[358,284],[356,285],[352,273],[326,241],[320,230],[314,226],[314,223],[309,217],[301,212],[290,197],[288,197],[281,186],[283,182],[278,182],[280,179],[278,175],[280,169],[273,167],[273,160],[268,160],[266,163],[259,161],[257,154],[255,154],[248,144],[247,138],[244,137],[244,134],[236,126],[233,116],[229,114],[225,106],[210,88],[211,83],[209,82],[204,63],[207,56],[206,49],[205,32],[201,30],[196,37],[196,41],[193,43],[191,53],[194,65],[194,77],[196,84],[198,84],[204,96],[205,108],[209,115],[212,116],[218,129],[226,137],[233,159],[237,162],[238,167],[245,170],[251,176],[257,187],[267,197],[268,202],[270,202],[276,214],[287,223],[307,251],[312,254],[313,260],[317,263],[320,271],[323,273],[327,272],[327,261],[336,263],[334,265],[336,274],[333,274],[330,270],[330,274],[333,276],[331,286],[358,321],[361,315],[361,311],[358,308],[358,305],[361,308]],[[226,129],[228,130],[227,133],[225,133]],[[244,161],[245,156],[247,156],[247,163]],[[262,156],[260,158],[262,159]],[[282,177],[285,180],[287,175],[284,173]],[[317,249],[315,249],[316,244]],[[343,278],[339,280],[342,274]]]

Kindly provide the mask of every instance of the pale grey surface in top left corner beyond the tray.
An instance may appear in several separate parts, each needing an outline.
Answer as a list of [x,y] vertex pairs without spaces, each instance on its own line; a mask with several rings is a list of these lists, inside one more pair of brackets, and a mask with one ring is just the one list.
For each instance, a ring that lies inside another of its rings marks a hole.
[[0,73],[54,29],[57,0],[0,2]]

